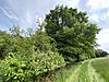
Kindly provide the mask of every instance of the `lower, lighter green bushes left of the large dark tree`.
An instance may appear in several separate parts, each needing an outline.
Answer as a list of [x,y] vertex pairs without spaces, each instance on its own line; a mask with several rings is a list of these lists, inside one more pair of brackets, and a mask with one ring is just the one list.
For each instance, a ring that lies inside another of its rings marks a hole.
[[32,82],[46,72],[65,66],[57,52],[56,42],[41,31],[23,36],[20,27],[11,34],[0,32],[0,80],[2,82]]

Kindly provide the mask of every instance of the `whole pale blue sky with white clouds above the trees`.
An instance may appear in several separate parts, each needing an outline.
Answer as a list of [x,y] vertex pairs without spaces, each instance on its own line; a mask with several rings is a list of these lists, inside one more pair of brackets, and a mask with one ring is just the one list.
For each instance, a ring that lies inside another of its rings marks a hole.
[[57,4],[87,12],[88,20],[101,28],[97,35],[99,48],[109,52],[109,0],[0,0],[0,30],[8,31],[13,25],[36,30],[37,19],[43,21]]

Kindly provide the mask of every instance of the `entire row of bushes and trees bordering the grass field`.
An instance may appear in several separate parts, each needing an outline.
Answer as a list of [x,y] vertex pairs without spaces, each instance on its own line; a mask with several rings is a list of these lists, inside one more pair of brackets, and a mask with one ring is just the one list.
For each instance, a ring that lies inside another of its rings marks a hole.
[[13,26],[9,33],[0,31],[2,82],[39,81],[66,63],[108,55],[95,49],[99,28],[85,12],[58,5],[39,27],[22,31]]

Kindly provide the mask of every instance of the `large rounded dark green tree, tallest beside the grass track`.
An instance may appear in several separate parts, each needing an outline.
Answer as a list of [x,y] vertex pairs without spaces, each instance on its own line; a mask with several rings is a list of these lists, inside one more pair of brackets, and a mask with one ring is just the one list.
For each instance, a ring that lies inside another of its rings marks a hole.
[[89,23],[86,12],[57,5],[45,21],[46,33],[56,39],[58,51],[66,61],[95,57],[94,46],[99,28]]

